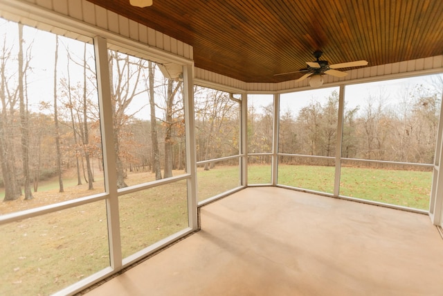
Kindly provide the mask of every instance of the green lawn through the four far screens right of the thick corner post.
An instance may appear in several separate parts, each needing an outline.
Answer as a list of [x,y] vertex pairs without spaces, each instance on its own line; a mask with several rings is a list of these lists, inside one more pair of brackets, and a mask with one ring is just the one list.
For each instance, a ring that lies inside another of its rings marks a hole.
[[[197,173],[199,200],[237,186],[234,181],[224,186],[237,173],[236,167],[216,167]],[[334,175],[334,166],[278,166],[278,184],[312,191],[334,193]],[[248,166],[248,184],[270,182],[270,165]],[[340,195],[428,210],[431,182],[432,173],[426,171],[342,167]]]

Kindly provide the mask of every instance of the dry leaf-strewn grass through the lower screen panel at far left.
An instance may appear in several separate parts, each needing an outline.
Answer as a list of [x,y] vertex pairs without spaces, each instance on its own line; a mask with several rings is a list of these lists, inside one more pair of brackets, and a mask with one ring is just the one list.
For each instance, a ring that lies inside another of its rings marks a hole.
[[48,295],[109,266],[105,202],[0,227],[0,295]]

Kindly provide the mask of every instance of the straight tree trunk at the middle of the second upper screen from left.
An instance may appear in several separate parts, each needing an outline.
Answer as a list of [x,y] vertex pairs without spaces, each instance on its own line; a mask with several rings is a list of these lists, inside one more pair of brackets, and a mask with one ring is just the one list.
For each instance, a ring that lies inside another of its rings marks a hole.
[[152,172],[155,173],[155,180],[161,180],[159,138],[157,136],[157,120],[155,116],[155,101],[154,101],[154,67],[155,65],[152,62],[149,62]]

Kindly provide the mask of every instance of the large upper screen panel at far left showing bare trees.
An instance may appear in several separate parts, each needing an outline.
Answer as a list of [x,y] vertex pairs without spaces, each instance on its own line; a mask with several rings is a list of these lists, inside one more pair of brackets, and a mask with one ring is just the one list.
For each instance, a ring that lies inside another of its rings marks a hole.
[[5,19],[0,35],[0,213],[103,192],[93,45]]

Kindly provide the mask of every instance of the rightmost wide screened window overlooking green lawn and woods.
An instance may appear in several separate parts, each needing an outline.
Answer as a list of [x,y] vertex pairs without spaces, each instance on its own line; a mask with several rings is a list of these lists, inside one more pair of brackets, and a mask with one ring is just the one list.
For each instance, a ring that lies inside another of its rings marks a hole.
[[429,208],[440,76],[345,88],[340,194]]

